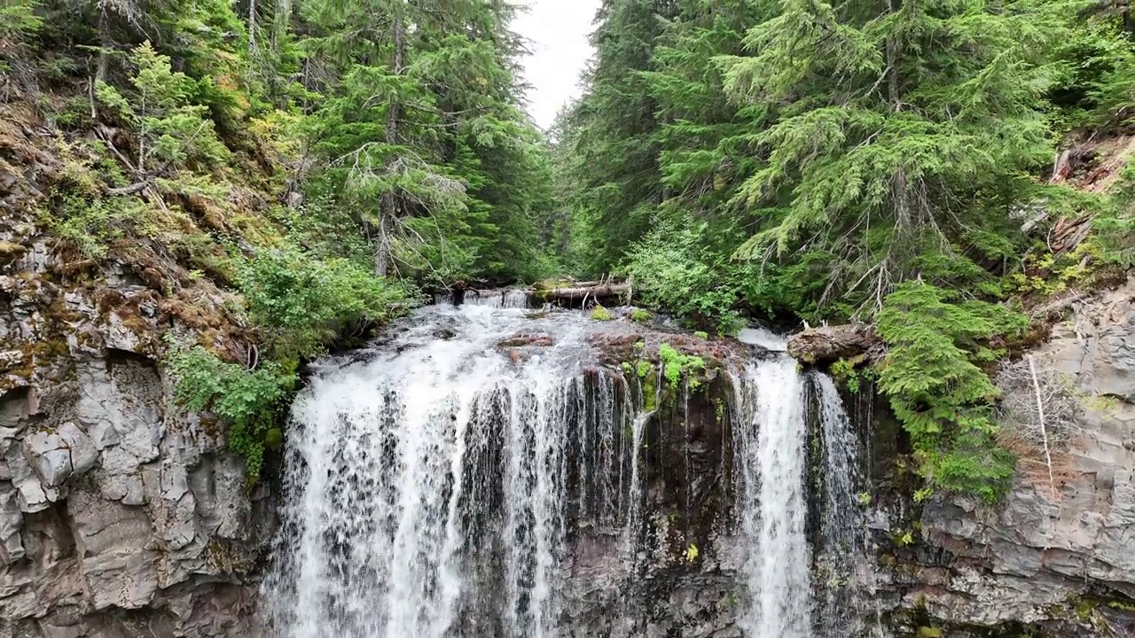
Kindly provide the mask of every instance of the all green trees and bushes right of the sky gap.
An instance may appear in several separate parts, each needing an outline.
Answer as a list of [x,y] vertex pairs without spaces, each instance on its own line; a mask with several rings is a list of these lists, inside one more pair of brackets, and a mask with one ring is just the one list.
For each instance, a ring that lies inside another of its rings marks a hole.
[[877,379],[930,485],[992,498],[1011,305],[1133,262],[1135,169],[1050,183],[1135,118],[1130,24],[1091,1],[606,0],[554,131],[561,259],[693,325],[877,324],[885,358],[841,376]]

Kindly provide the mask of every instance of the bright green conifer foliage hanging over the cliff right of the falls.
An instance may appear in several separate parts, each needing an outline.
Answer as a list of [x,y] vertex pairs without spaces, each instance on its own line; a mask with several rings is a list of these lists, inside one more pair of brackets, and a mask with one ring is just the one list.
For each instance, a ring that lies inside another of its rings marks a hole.
[[885,299],[878,334],[889,350],[878,385],[932,485],[992,501],[1012,477],[1012,457],[994,438],[998,392],[980,366],[999,355],[991,338],[1027,325],[1004,307],[959,301],[922,282],[902,284]]

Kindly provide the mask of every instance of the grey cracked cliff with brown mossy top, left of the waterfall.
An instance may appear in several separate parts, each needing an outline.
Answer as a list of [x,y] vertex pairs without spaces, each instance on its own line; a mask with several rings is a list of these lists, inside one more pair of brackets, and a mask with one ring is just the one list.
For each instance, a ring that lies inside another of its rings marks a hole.
[[239,324],[157,244],[41,234],[59,167],[32,159],[0,161],[0,636],[247,636],[263,490],[158,359],[159,328],[235,347]]

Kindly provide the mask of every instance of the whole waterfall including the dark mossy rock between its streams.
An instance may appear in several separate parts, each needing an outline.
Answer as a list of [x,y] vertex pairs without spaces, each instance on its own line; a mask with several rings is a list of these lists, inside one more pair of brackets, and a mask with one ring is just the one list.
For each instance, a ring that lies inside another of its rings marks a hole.
[[[286,433],[272,635],[869,626],[857,439],[830,379],[723,339],[678,371],[653,345],[676,335],[494,305],[420,309],[314,367]],[[615,342],[633,356],[613,364]]]

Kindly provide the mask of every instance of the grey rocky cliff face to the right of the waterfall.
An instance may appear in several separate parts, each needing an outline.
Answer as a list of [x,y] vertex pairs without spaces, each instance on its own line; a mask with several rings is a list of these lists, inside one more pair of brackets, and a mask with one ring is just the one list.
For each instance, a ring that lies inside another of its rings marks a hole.
[[900,633],[1135,636],[1135,282],[1077,304],[1033,356],[1078,403],[1051,482],[1034,459],[995,507],[882,497],[884,607]]

